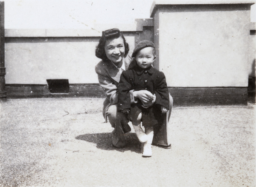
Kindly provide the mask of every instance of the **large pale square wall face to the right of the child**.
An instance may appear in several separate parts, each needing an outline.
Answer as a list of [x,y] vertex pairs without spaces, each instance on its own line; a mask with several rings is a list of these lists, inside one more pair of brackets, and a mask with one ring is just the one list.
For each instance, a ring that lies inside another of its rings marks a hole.
[[168,86],[247,86],[250,11],[159,13]]

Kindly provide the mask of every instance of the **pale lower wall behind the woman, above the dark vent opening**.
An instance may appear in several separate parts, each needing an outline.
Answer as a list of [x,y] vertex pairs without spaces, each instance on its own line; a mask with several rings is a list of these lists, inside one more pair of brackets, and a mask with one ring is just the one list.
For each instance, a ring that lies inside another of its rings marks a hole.
[[[134,49],[134,37],[125,37]],[[94,70],[98,42],[6,43],[6,84],[47,84],[46,79],[69,83],[98,83]]]

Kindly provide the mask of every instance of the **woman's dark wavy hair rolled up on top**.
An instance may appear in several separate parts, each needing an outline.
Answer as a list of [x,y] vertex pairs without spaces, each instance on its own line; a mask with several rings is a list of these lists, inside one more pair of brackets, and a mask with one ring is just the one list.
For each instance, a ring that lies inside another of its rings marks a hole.
[[125,55],[124,55],[124,57],[126,57],[128,52],[129,52],[129,45],[128,45],[128,43],[126,43],[125,37],[122,35],[122,33],[119,31],[119,29],[108,29],[108,30],[105,30],[105,31],[102,32],[102,37],[99,39],[99,44],[96,47],[96,51],[95,51],[96,57],[101,58],[104,61],[107,61],[108,58],[107,58],[106,53],[105,53],[106,41],[119,38],[120,36],[124,40],[124,44],[125,44]]

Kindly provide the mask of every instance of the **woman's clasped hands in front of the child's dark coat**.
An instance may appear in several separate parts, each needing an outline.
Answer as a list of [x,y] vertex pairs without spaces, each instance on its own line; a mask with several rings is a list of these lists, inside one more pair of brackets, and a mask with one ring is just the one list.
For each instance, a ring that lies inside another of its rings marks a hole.
[[133,94],[135,99],[140,99],[143,106],[151,106],[156,101],[156,96],[148,90],[134,91]]

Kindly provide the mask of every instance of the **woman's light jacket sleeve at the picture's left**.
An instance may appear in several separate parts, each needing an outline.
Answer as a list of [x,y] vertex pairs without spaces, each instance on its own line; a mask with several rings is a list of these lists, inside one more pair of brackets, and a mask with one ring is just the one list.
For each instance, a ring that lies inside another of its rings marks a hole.
[[115,83],[113,83],[113,81],[106,76],[107,72],[105,72],[105,69],[101,66],[101,64],[98,64],[95,67],[95,71],[98,74],[99,85],[102,87],[104,94],[109,99],[110,104],[117,104],[118,90]]

